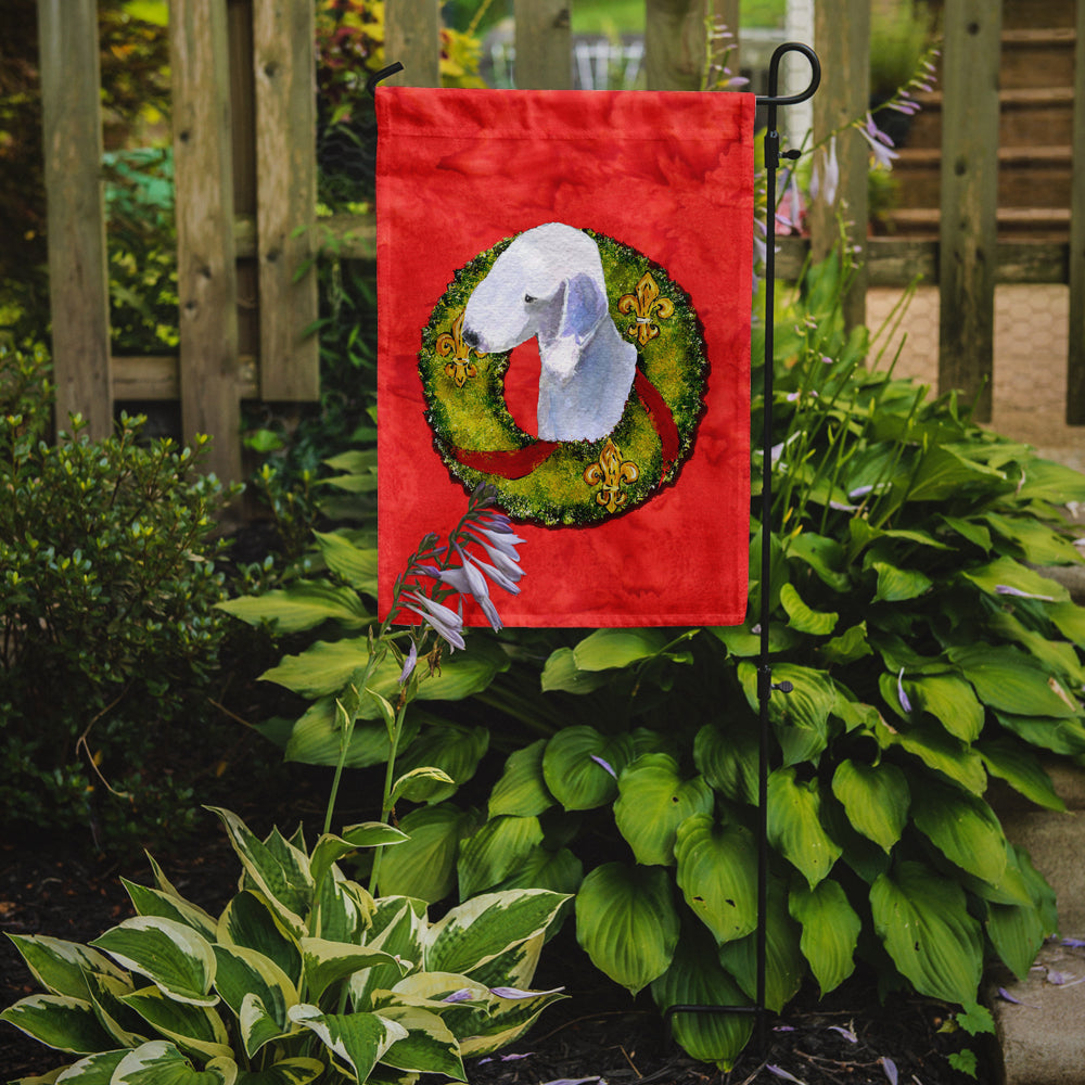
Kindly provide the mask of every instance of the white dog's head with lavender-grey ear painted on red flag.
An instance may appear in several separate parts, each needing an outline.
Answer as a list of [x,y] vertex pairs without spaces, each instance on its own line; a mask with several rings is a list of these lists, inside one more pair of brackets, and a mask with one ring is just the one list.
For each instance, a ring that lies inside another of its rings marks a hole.
[[565,383],[607,317],[595,241],[547,222],[520,234],[475,286],[463,314],[463,341],[482,354],[501,354],[537,335],[544,368]]

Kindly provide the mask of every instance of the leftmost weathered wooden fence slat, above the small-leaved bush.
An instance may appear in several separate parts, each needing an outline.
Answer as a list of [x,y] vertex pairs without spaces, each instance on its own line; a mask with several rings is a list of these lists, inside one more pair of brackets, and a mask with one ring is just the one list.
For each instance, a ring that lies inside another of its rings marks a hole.
[[38,0],[56,425],[113,431],[95,0]]

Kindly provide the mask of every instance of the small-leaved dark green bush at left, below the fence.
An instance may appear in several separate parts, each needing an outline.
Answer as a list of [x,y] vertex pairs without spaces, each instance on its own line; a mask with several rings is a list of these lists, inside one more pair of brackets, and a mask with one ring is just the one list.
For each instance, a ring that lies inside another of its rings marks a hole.
[[143,445],[138,418],[104,441],[74,418],[47,444],[44,363],[0,348],[0,806],[9,825],[89,821],[118,842],[191,817],[169,758],[208,715],[227,494],[203,438]]

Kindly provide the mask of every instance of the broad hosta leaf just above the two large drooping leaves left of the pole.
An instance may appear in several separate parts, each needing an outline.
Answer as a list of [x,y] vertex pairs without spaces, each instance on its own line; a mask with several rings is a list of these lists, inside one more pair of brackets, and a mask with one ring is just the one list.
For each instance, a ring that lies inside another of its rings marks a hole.
[[682,780],[665,753],[642,754],[618,778],[614,822],[638,863],[672,866],[675,833],[692,814],[712,810],[715,796],[701,777]]

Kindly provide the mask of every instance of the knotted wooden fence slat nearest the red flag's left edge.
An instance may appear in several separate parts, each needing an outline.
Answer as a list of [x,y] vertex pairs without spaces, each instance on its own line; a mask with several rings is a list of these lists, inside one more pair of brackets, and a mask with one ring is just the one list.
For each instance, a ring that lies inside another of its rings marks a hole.
[[[320,398],[314,235],[317,215],[315,9],[265,0],[253,8],[260,397]],[[298,277],[306,264],[308,270]],[[296,281],[295,281],[296,280]]]

